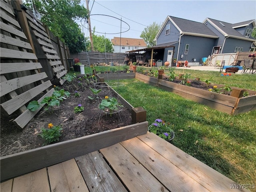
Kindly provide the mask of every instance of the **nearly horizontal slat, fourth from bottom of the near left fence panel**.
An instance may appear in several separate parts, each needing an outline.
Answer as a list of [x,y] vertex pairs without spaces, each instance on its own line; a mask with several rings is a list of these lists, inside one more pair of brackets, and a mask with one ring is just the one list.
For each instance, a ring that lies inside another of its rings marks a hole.
[[13,73],[42,68],[40,63],[1,63],[0,74]]

